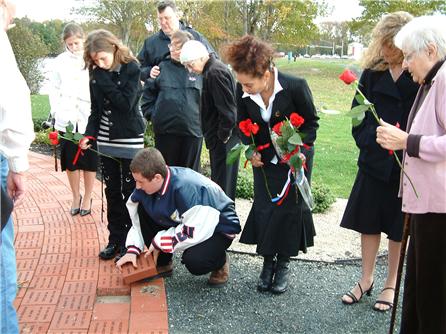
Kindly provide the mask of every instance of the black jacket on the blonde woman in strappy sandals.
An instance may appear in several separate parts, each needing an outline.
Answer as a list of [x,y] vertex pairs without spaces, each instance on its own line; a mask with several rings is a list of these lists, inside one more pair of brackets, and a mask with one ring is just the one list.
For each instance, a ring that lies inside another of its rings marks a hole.
[[[400,124],[406,129],[407,117],[418,92],[418,84],[404,71],[396,82],[389,71],[364,70],[359,80],[359,89],[375,105],[376,112],[385,122]],[[353,99],[352,107],[358,105]],[[378,123],[370,112],[361,124],[353,127],[352,134],[358,146],[358,167],[362,172],[379,180],[399,178],[400,169],[395,158],[376,142]],[[397,152],[401,159],[401,151]]]

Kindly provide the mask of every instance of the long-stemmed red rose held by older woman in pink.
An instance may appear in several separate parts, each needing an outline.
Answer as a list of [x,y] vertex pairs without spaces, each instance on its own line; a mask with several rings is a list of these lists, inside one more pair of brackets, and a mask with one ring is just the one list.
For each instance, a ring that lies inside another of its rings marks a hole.
[[[357,92],[357,94],[355,95],[355,99],[358,102],[358,105],[356,107],[353,107],[346,114],[347,116],[350,116],[352,118],[352,125],[353,126],[360,125],[362,120],[364,119],[365,113],[367,111],[370,111],[372,113],[373,117],[375,118],[376,122],[378,124],[380,124],[380,119],[378,117],[378,114],[376,113],[374,104],[372,102],[370,102],[369,100],[367,100],[365,95],[359,89],[359,82],[358,82],[358,78],[356,77],[355,73],[353,73],[351,70],[346,69],[339,76],[339,79],[341,79],[347,85],[353,85],[353,87],[355,88],[355,90]],[[399,124],[397,124],[396,126],[398,126],[398,125]],[[401,164],[401,161],[398,158],[398,155],[394,151],[389,151],[389,154],[393,154],[393,156],[395,157],[395,160],[398,163],[398,165],[400,166],[401,171],[409,180],[409,183],[412,186],[413,191],[415,192],[415,196],[417,196],[417,198],[418,198],[417,190],[415,189],[415,186],[414,186],[412,180],[410,179],[409,175],[407,175],[406,171],[404,170],[403,165]]]

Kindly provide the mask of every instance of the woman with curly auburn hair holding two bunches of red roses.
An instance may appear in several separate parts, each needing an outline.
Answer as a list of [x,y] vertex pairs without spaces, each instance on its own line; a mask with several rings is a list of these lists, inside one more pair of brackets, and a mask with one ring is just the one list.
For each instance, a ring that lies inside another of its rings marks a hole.
[[[225,49],[228,63],[239,82],[237,87],[238,123],[251,119],[259,126],[254,135],[257,147],[269,147],[255,152],[251,158],[254,174],[254,203],[246,221],[240,241],[256,244],[257,253],[264,257],[259,291],[283,293],[288,287],[290,256],[306,252],[313,246],[315,230],[310,209],[302,196],[295,191],[279,206],[271,201],[271,194],[281,192],[288,178],[289,166],[280,162],[275,151],[271,128],[298,113],[305,120],[300,131],[308,149],[306,177],[310,181],[313,161],[313,143],[316,139],[318,119],[311,91],[304,79],[280,73],[272,62],[274,50],[253,36],[244,36]],[[241,136],[245,144],[251,139]],[[263,177],[266,175],[267,185]]]

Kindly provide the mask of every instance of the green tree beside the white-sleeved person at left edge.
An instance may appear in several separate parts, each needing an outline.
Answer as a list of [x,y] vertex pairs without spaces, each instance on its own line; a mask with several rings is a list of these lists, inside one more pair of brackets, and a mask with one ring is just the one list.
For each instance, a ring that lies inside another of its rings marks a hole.
[[48,48],[39,35],[34,34],[30,29],[29,19],[16,19],[15,23],[16,27],[8,30],[8,37],[20,72],[25,78],[31,94],[36,94],[44,79],[39,62],[42,57],[48,54]]

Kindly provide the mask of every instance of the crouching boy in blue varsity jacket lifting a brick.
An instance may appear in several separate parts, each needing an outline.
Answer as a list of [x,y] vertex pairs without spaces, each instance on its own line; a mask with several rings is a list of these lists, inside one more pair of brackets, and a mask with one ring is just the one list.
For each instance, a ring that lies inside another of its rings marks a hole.
[[172,253],[184,251],[182,263],[193,275],[211,272],[208,283],[223,285],[229,278],[226,250],[240,222],[234,202],[207,177],[166,165],[155,148],[139,151],[130,164],[136,189],[127,201],[132,228],[127,253],[116,263],[121,269],[141,254],[153,253],[159,276],[172,273]]

